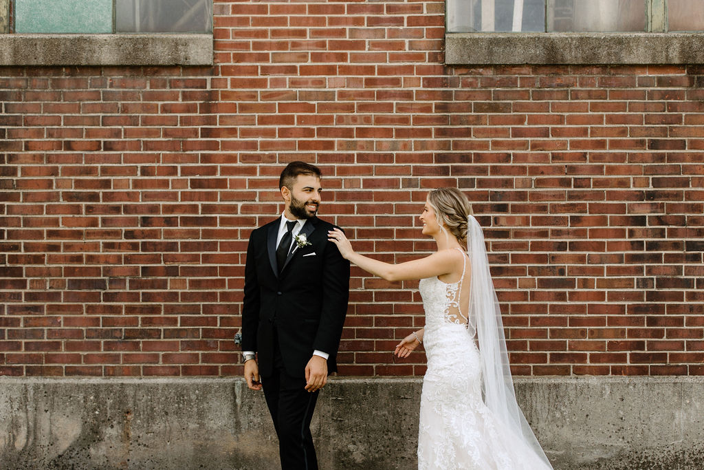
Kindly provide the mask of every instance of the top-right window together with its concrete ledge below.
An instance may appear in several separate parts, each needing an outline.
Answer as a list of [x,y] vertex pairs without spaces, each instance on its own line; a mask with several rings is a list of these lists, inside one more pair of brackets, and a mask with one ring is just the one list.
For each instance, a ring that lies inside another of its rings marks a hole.
[[447,0],[445,63],[704,63],[704,0]]

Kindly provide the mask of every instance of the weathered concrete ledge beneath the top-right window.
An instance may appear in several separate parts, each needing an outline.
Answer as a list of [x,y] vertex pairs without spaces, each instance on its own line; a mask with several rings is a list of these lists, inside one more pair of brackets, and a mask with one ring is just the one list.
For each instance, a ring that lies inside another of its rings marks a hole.
[[702,33],[447,33],[448,65],[704,63]]

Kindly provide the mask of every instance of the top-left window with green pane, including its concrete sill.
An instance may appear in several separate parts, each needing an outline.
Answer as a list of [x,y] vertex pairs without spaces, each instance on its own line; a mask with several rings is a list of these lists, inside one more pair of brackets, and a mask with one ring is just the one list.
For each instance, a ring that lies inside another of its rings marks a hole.
[[213,0],[0,0],[0,66],[212,64]]

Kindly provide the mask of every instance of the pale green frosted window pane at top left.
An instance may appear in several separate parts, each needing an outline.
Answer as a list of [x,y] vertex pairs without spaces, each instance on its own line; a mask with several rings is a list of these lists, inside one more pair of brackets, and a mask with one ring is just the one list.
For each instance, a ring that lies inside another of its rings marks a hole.
[[113,0],[15,0],[14,16],[15,32],[113,32]]

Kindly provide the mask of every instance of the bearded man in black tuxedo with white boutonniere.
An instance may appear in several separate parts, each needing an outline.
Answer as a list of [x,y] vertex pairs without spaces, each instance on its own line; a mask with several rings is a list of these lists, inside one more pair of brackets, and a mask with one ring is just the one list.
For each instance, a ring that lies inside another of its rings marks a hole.
[[350,264],[315,214],[320,169],[294,161],[279,190],[284,214],[253,230],[244,268],[242,354],[251,390],[264,389],[283,470],[315,470],[310,434],[318,390],[335,357],[349,297]]

